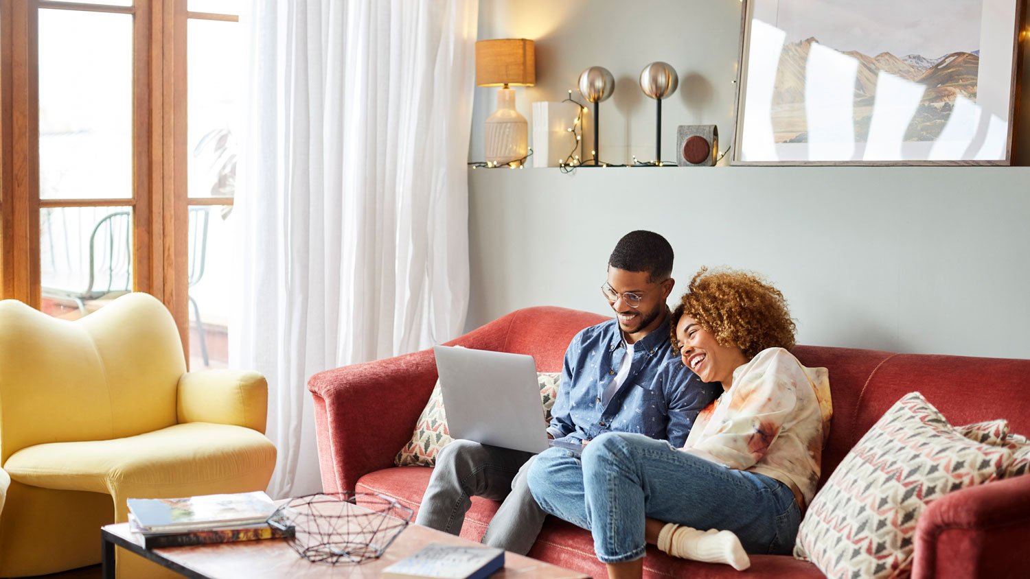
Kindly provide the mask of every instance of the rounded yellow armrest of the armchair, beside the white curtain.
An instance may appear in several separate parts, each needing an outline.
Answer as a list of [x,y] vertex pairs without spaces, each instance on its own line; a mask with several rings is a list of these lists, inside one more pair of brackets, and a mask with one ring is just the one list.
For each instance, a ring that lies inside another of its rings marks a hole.
[[179,378],[178,422],[243,426],[265,433],[268,382],[247,370],[200,370]]

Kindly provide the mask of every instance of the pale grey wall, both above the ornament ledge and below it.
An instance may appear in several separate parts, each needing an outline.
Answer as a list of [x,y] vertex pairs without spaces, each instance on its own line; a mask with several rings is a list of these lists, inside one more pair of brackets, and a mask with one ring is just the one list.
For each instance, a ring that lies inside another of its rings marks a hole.
[[[620,84],[602,150],[650,157],[653,101],[636,76],[664,60],[684,92],[663,107],[664,156],[683,123],[714,122],[728,144],[737,0],[482,0],[480,14],[480,38],[537,40],[538,85],[518,96],[527,117],[530,102],[605,66]],[[688,77],[701,88],[685,91]],[[473,158],[493,93],[477,88]],[[476,170],[469,223],[469,329],[527,305],[605,313],[612,247],[648,228],[676,250],[674,296],[702,264],[760,272],[786,294],[801,343],[1030,358],[1028,168]]]

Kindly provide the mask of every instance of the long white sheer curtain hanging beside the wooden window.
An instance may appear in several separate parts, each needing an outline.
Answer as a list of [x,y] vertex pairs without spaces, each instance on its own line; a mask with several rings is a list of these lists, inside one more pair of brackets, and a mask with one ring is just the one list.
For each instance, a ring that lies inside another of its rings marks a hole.
[[298,496],[321,488],[307,379],[462,329],[478,0],[250,14],[230,363],[268,377],[269,493]]

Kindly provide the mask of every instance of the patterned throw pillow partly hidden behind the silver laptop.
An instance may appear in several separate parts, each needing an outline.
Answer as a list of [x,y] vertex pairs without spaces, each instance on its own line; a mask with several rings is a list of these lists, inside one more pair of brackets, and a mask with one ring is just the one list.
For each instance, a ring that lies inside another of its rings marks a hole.
[[[558,383],[561,372],[537,372],[537,384],[540,386],[540,399],[544,403],[544,420],[550,422],[551,406],[558,396]],[[437,464],[437,455],[453,438],[447,431],[447,414],[444,412],[444,397],[440,392],[440,381],[433,387],[430,401],[422,408],[422,413],[415,422],[415,432],[411,440],[401,448],[393,459],[399,467],[418,466],[432,467]]]

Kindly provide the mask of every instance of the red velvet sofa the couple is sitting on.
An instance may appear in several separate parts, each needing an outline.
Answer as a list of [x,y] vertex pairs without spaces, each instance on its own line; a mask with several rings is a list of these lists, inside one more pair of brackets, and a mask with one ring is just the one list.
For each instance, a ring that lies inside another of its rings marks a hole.
[[[596,314],[528,307],[454,339],[467,348],[531,354],[540,371],[559,371],[580,329],[604,321]],[[969,335],[968,332],[964,335]],[[833,425],[823,453],[823,480],[869,427],[902,395],[920,391],[954,425],[1004,418],[1012,432],[1030,434],[1030,360],[892,354],[798,346],[806,366],[829,369]],[[411,437],[437,379],[432,350],[315,374],[318,457],[327,492],[374,492],[417,509],[432,472],[393,466]],[[475,498],[464,537],[479,540],[497,503]],[[960,491],[933,503],[921,517],[914,576],[969,578],[1025,576],[1030,570],[1030,475]],[[529,556],[604,577],[589,533],[548,519]],[[761,577],[821,577],[790,556],[752,555],[744,573]],[[731,568],[675,559],[650,547],[649,576],[735,576]]]

